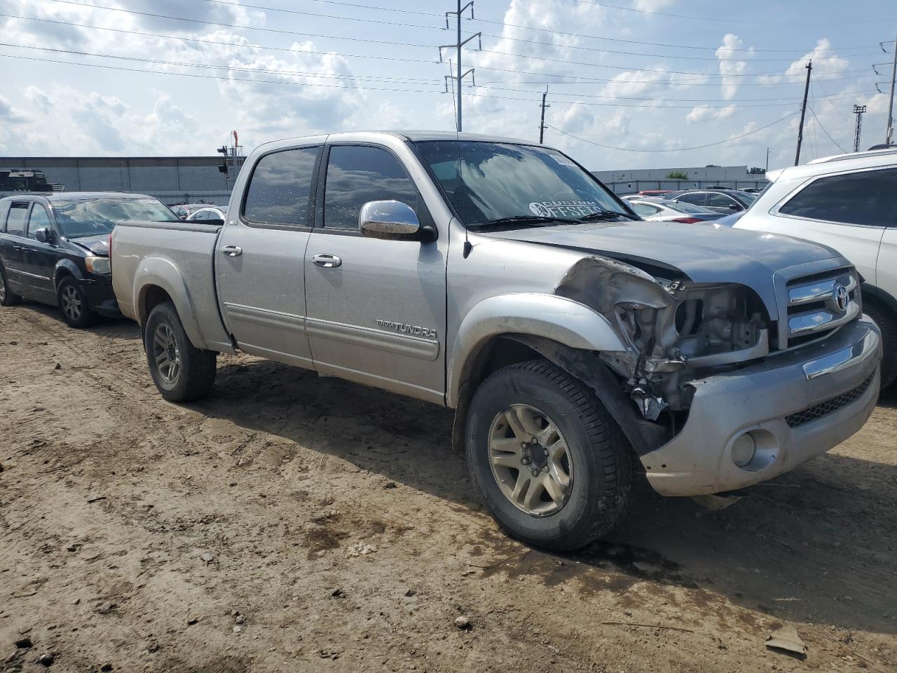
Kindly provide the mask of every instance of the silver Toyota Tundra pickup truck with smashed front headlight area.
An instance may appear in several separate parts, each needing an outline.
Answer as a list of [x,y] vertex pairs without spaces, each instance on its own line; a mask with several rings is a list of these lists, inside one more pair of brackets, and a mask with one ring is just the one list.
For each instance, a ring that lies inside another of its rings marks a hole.
[[845,440],[878,397],[859,278],[822,245],[648,223],[545,147],[444,133],[264,144],[222,226],[129,222],[118,305],[172,401],[238,350],[456,410],[509,534],[586,546],[641,475],[752,485]]

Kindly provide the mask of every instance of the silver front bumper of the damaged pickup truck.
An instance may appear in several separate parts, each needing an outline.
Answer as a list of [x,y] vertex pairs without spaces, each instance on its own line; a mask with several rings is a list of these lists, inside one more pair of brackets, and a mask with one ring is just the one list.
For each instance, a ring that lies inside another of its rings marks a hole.
[[[745,369],[690,382],[688,420],[641,457],[662,495],[701,495],[756,484],[846,440],[878,400],[881,336],[865,316],[825,341]],[[736,466],[732,448],[752,433],[756,454]]]

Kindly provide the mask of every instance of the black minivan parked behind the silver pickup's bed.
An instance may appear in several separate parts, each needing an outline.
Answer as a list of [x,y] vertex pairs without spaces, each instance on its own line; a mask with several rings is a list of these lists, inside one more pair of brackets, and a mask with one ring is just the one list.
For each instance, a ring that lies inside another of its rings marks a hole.
[[0,304],[22,297],[58,306],[73,328],[118,316],[109,274],[109,233],[122,220],[178,222],[135,194],[56,192],[0,199]]

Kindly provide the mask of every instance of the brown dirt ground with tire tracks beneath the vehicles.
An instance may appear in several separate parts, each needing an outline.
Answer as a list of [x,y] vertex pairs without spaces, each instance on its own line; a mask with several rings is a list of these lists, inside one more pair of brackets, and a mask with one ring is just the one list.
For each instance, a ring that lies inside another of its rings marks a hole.
[[4,673],[897,670],[897,395],[725,510],[642,490],[548,555],[477,503],[448,411],[245,355],[175,406],[137,336],[0,309]]

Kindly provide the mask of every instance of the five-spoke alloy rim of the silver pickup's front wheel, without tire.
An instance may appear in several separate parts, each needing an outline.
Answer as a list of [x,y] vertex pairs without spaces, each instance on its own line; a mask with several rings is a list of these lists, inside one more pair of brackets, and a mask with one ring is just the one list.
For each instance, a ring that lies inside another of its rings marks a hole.
[[570,446],[557,424],[535,406],[515,404],[495,416],[489,463],[501,493],[530,516],[553,514],[570,498]]

